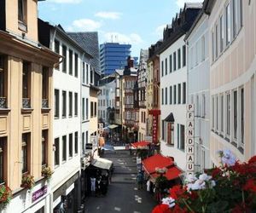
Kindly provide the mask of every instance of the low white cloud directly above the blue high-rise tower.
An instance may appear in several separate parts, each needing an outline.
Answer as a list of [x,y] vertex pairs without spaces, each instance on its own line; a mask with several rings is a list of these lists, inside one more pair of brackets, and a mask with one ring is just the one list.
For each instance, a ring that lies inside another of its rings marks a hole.
[[119,32],[107,32],[104,34],[104,38],[106,39],[106,42],[131,43],[131,44],[143,43],[142,37],[140,37],[137,33],[131,33],[131,34],[125,35]]

